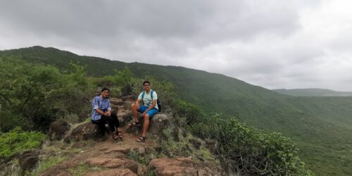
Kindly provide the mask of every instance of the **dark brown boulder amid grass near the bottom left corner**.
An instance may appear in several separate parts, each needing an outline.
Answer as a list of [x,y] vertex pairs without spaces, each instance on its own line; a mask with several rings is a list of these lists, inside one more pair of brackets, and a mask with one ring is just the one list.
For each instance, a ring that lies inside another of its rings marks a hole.
[[22,170],[32,170],[39,161],[39,153],[38,150],[30,150],[20,154],[18,160],[20,161]]

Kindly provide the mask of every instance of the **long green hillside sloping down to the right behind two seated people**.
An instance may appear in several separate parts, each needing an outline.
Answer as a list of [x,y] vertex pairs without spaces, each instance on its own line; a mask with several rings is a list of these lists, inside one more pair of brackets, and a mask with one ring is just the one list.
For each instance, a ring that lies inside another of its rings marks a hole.
[[55,65],[63,71],[70,69],[70,63],[80,63],[95,77],[113,75],[114,70],[124,67],[137,77],[156,75],[159,80],[172,81],[182,100],[199,105],[207,113],[235,116],[260,129],[291,137],[315,174],[352,175],[352,97],[285,96],[201,70],[122,63],[41,46],[0,51],[0,57]]

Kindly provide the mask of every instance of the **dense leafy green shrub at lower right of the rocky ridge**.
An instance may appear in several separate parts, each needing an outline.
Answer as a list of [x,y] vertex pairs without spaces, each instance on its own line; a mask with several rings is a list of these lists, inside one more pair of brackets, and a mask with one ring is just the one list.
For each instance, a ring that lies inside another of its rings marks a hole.
[[237,163],[239,175],[310,175],[298,149],[279,133],[265,133],[235,118],[215,114],[191,125],[199,137],[218,141],[222,156]]

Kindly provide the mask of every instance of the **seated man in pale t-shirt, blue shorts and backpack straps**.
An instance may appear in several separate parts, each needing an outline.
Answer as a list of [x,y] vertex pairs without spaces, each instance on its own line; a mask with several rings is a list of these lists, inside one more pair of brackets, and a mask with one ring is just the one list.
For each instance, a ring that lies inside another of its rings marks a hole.
[[[154,114],[158,113],[158,106],[156,105],[158,95],[151,89],[151,83],[149,81],[144,81],[143,89],[144,91],[139,94],[136,103],[132,103],[131,107],[134,122],[130,124],[130,127],[141,126],[138,118],[138,112],[142,113],[142,118],[144,118],[142,135],[137,139],[137,142],[146,142],[146,132],[149,128],[149,119],[152,118]],[[141,100],[143,104],[139,105]]]

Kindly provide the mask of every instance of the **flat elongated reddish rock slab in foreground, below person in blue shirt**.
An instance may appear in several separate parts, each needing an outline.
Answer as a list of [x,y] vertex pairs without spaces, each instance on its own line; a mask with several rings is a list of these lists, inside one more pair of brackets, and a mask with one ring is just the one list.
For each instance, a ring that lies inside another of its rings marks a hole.
[[103,168],[128,168],[137,174],[138,165],[127,158],[89,158],[87,164]]

